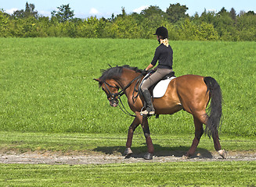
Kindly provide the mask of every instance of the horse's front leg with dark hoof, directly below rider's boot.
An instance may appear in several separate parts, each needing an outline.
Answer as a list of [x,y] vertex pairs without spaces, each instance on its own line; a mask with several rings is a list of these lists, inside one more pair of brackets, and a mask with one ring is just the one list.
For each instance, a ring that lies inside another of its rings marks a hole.
[[152,160],[153,159],[153,143],[150,137],[150,127],[146,116],[142,117],[142,129],[144,132],[144,136],[146,138],[146,146],[148,152],[144,155],[144,159]]

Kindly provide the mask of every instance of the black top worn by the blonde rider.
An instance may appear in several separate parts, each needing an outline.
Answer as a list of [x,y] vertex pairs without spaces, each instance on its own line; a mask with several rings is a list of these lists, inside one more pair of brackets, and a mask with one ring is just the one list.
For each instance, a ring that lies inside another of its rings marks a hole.
[[172,69],[172,55],[171,45],[166,47],[164,44],[160,44],[155,51],[151,64],[156,65],[158,60],[157,67],[159,69]]

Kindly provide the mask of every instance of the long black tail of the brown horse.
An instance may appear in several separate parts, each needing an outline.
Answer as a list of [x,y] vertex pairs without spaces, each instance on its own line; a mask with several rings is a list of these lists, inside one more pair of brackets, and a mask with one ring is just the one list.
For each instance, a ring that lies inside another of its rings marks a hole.
[[217,81],[210,77],[204,77],[204,83],[207,85],[207,92],[209,91],[211,97],[211,104],[207,109],[207,125],[205,132],[209,137],[218,132],[218,127],[222,120],[222,90]]

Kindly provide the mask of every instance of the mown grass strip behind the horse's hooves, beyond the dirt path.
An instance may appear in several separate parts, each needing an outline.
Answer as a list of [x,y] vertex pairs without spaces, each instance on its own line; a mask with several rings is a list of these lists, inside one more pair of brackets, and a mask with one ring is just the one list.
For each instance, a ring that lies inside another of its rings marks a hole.
[[[155,153],[179,150],[183,154],[189,150],[194,135],[152,134]],[[124,152],[126,134],[85,134],[85,133],[45,133],[45,132],[0,132],[0,153],[15,150],[17,153],[50,150],[81,153],[121,153]],[[227,151],[256,151],[256,137],[222,136],[222,147]],[[135,132],[132,150],[145,153],[146,142],[143,132]],[[198,150],[215,151],[214,143],[208,136],[202,136]]]

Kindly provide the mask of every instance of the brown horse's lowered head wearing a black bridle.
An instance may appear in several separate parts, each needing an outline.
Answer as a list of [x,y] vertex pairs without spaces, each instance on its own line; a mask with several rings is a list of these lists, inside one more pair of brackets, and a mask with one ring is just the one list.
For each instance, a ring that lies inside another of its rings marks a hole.
[[119,87],[117,86],[114,79],[110,79],[107,81],[101,81],[100,79],[94,79],[97,82],[99,82],[99,86],[102,88],[102,90],[106,93],[106,98],[108,101],[110,101],[111,107],[117,107],[118,105],[118,90]]

